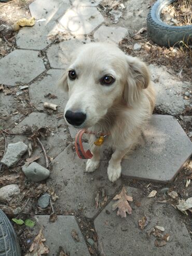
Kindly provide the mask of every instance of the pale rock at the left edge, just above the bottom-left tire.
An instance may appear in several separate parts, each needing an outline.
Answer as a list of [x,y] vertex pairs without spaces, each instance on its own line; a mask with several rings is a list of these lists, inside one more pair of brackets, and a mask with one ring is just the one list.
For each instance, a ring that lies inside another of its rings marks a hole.
[[8,202],[13,196],[20,194],[19,186],[16,184],[10,184],[0,189],[0,201]]

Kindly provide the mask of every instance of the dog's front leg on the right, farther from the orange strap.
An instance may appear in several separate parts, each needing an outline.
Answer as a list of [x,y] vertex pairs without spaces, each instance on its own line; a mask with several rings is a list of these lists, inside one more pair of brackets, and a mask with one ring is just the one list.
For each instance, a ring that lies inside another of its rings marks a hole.
[[112,182],[116,181],[121,176],[121,160],[129,149],[116,149],[108,162],[107,174],[108,179]]

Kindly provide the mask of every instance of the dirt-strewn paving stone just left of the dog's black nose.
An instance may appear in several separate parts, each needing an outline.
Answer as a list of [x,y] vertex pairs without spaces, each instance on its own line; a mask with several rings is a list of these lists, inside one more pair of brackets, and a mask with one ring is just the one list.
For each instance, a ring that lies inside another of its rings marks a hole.
[[[56,115],[47,115],[44,113],[31,113],[28,117],[23,119],[21,123],[18,124],[16,128],[12,129],[12,132],[22,132],[23,126],[37,126],[37,127],[49,127],[52,131],[52,135],[50,134],[47,138],[40,138],[42,141],[48,156],[56,157],[59,153],[65,149],[67,133],[65,132],[66,125],[63,119],[58,120]],[[12,141],[17,140],[18,136],[12,138]],[[28,142],[29,143],[29,142]],[[44,165],[44,156],[40,154],[39,151],[42,151],[41,148],[38,147],[34,151],[34,154],[41,155],[41,159],[37,162],[41,165]],[[42,162],[43,161],[43,162]]]

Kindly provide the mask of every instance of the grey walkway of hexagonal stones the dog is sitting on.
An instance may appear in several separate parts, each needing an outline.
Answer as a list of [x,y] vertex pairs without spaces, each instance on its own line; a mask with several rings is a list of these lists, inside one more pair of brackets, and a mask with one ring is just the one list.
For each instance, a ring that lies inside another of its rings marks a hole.
[[[36,109],[23,120],[19,117],[20,121],[12,115],[11,121],[15,124],[12,132],[22,131],[22,127],[26,125],[49,126],[52,129],[51,136],[43,140],[48,156],[53,159],[47,185],[56,188],[58,200],[54,207],[60,209],[61,213],[67,213],[67,216],[58,216],[55,223],[49,223],[48,215],[37,216],[38,222],[44,225],[44,236],[50,249],[48,255],[57,255],[59,247],[62,246],[68,255],[85,256],[90,255],[88,247],[94,246],[98,248],[98,255],[100,253],[106,256],[189,256],[192,251],[190,236],[179,212],[172,206],[159,204],[156,199],[143,196],[139,189],[127,187],[128,194],[133,196],[133,213],[126,218],[120,218],[112,211],[112,198],[129,178],[173,181],[189,159],[192,143],[173,116],[180,115],[186,105],[190,104],[181,92],[190,89],[191,84],[181,82],[164,66],[149,66],[158,92],[157,109],[168,115],[153,116],[145,131],[146,144],[140,145],[129,159],[122,162],[122,179],[115,184],[109,182],[106,174],[106,160],[110,152],[104,152],[97,172],[85,174],[85,161],[79,160],[74,152],[76,129],[67,127],[64,120],[58,119],[57,115],[47,114],[43,107],[44,95],[50,93],[57,98],[48,101],[58,105],[58,113],[63,111],[67,95],[58,91],[55,86],[70,60],[69,52],[76,46],[91,41],[118,44],[128,33],[128,19],[133,19],[133,22],[138,19],[136,16],[134,20],[130,11],[134,0],[126,2],[125,10],[124,7],[120,9],[124,17],[114,20],[113,23],[99,11],[99,3],[99,0],[34,1],[29,6],[31,15],[36,19],[34,27],[20,29],[16,36],[17,50],[0,60],[0,83],[16,88],[18,84],[28,84],[30,102]],[[142,2],[142,8],[147,10],[146,6]],[[60,32],[66,33],[66,40],[64,38],[64,41],[57,44],[52,43],[51,37]],[[39,51],[42,51],[41,54]],[[10,95],[0,94],[2,113],[8,115],[14,104]],[[23,141],[29,144],[27,138],[23,139],[19,135],[7,139],[8,143]],[[34,155],[37,154],[40,154],[40,149],[35,150]],[[45,166],[44,157],[37,162]],[[98,193],[101,209],[95,207]],[[105,197],[107,205],[103,203]],[[136,204],[136,201],[141,204]],[[102,206],[102,203],[106,206]],[[98,244],[91,237],[86,237],[85,234],[83,236],[75,216],[69,215],[70,212],[78,211],[94,223]],[[145,214],[150,222],[146,229],[141,230],[138,220]],[[163,226],[165,233],[170,234],[166,246],[156,247],[155,237],[146,235],[156,225]],[[73,230],[78,234],[79,241],[72,237]]]

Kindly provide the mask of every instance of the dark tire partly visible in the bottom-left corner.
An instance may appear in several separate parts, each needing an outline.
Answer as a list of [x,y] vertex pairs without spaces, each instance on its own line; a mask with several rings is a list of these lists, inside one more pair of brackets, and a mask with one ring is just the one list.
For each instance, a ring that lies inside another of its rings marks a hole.
[[0,209],[0,256],[21,256],[19,241],[8,217]]

